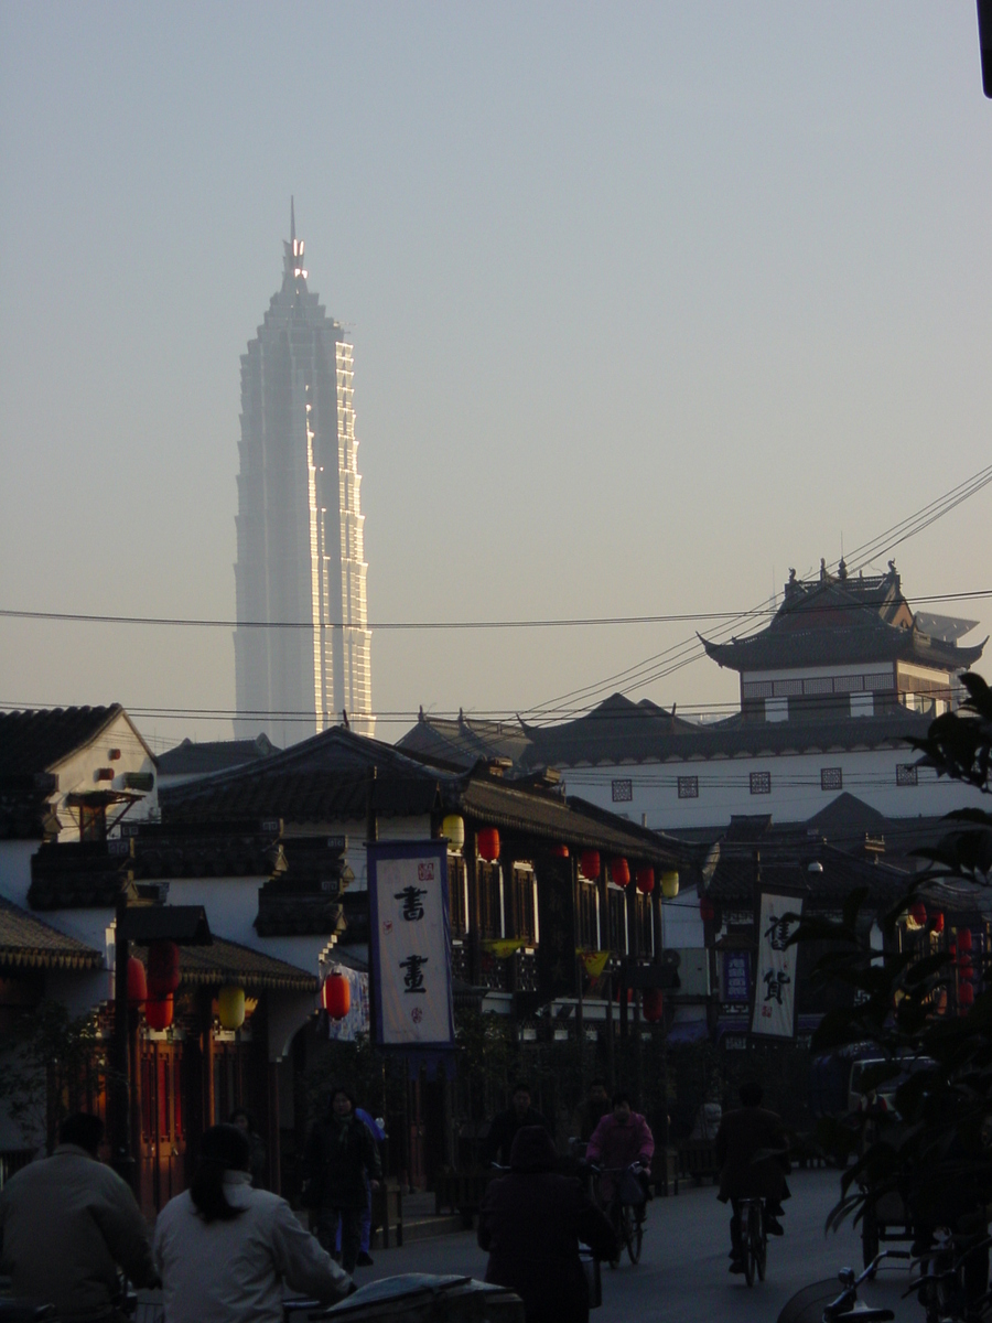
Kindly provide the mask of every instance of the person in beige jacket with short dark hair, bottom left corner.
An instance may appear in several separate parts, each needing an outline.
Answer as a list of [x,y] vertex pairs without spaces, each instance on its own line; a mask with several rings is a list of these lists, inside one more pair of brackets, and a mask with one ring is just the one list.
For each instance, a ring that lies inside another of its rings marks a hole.
[[99,1160],[103,1122],[77,1111],[58,1146],[0,1192],[0,1271],[16,1295],[53,1304],[65,1323],[123,1323],[118,1267],[157,1283],[148,1226],[128,1185]]

